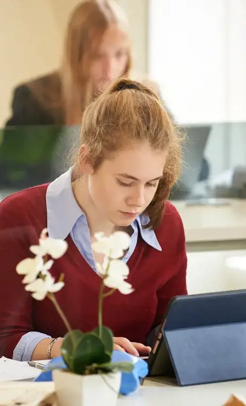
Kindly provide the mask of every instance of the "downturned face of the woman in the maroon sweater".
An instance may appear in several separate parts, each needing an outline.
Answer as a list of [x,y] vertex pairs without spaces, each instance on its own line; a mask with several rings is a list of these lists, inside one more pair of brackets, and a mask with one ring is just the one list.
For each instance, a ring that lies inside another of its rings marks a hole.
[[128,226],[152,201],[162,178],[167,152],[138,143],[87,171],[90,205],[117,226]]

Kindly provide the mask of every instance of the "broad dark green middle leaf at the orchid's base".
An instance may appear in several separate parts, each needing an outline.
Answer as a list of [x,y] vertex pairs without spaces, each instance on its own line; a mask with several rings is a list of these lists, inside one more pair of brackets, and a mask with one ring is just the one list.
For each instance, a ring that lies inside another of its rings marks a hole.
[[105,352],[102,341],[94,334],[84,334],[73,354],[73,372],[84,374],[86,366],[94,363],[110,362],[111,356]]

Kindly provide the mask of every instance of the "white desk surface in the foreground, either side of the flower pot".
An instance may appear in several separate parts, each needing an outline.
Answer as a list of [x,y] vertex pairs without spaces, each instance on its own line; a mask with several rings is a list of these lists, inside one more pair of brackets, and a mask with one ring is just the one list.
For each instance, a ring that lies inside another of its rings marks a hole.
[[[53,382],[17,382],[14,387],[11,383],[0,384],[1,400],[6,390],[9,395],[7,398],[12,401],[20,397],[21,393],[29,394],[29,397],[26,395],[29,401],[31,393],[33,400],[37,401],[38,398],[51,394],[54,391],[54,384]],[[144,386],[140,386],[134,393],[119,397],[117,406],[223,406],[232,394],[245,399],[246,381],[178,387],[146,380]],[[10,401],[7,404],[10,404]],[[56,402],[54,406],[57,406]]]

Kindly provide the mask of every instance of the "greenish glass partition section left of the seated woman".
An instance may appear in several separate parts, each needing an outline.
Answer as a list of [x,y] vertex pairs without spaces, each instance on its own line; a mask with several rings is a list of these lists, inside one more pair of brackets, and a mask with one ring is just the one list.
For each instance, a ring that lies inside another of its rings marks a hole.
[[0,132],[0,198],[48,183],[70,166],[77,127],[8,126]]

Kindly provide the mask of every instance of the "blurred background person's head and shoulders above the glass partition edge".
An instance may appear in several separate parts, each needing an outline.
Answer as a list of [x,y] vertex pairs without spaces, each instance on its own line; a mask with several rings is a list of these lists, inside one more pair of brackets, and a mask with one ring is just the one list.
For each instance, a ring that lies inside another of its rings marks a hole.
[[129,76],[131,60],[121,7],[114,0],[82,1],[68,22],[60,69],[15,88],[6,125],[78,125],[96,95]]

